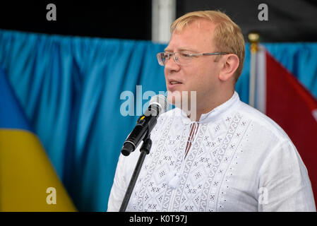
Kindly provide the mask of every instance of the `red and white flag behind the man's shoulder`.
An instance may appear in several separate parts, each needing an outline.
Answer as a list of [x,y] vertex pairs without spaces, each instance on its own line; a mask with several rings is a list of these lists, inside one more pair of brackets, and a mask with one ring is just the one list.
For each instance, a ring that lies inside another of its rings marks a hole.
[[254,105],[279,124],[296,146],[317,203],[317,100],[263,46],[259,45],[252,64]]

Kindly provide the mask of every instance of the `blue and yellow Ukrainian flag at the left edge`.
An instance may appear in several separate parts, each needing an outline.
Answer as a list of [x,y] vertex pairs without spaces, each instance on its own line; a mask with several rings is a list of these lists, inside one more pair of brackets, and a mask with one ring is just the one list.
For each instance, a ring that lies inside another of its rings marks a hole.
[[76,211],[1,69],[0,211]]

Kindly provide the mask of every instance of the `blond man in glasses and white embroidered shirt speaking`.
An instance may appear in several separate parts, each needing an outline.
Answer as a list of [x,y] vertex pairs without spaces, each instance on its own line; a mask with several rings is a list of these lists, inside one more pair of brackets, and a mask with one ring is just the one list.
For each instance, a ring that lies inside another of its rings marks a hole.
[[[171,32],[157,59],[176,107],[152,129],[126,210],[316,211],[292,141],[234,91],[244,62],[239,26],[220,11],[196,11],[175,20]],[[108,211],[121,206],[139,148],[119,157]]]

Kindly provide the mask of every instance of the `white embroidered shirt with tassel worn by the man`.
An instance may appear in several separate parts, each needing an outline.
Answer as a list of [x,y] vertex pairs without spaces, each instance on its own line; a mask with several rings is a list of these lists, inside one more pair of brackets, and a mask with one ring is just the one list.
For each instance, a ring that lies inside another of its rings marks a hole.
[[[307,169],[273,120],[234,95],[192,122],[179,108],[151,133],[126,211],[316,211]],[[118,211],[140,155],[120,155],[108,211]]]

